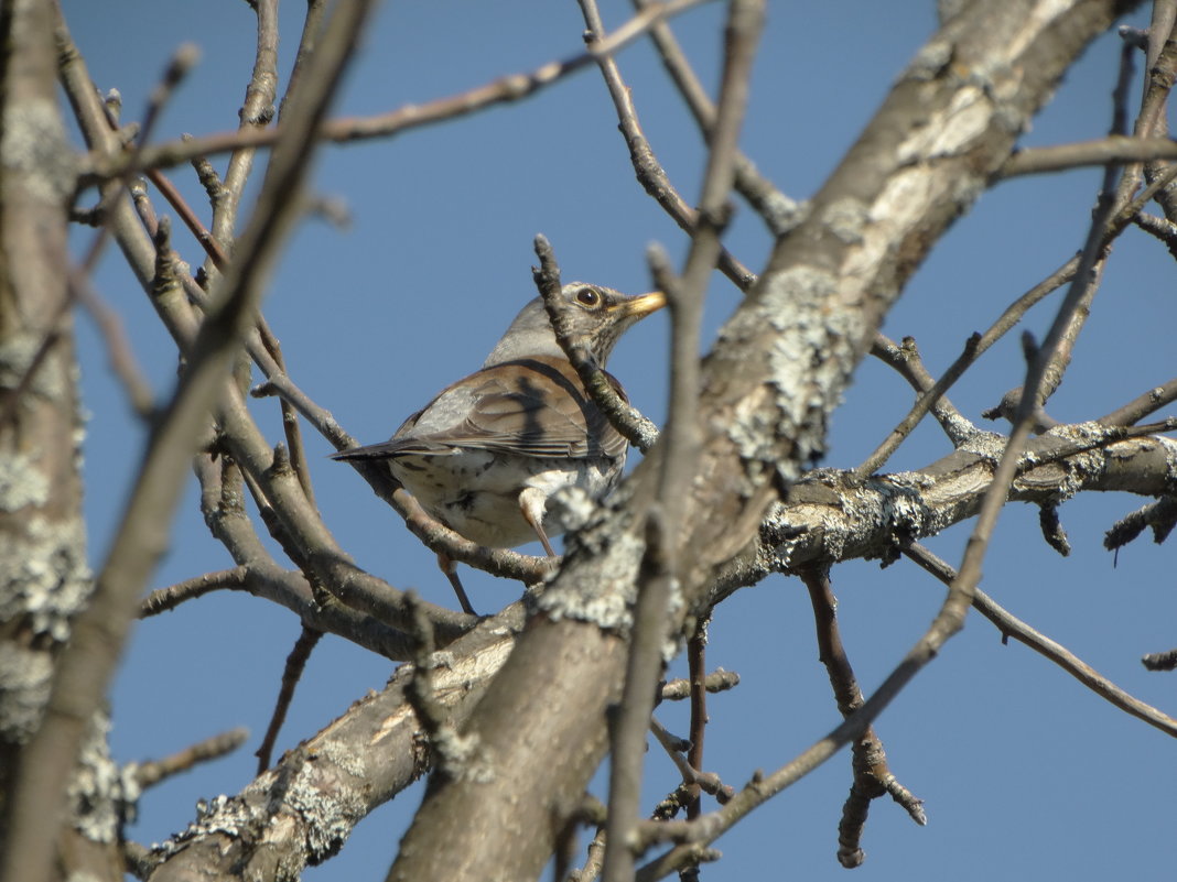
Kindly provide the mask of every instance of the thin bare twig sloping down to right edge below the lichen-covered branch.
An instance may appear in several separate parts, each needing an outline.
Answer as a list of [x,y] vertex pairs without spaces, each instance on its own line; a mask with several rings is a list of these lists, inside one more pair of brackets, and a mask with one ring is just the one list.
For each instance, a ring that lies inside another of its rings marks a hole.
[[[905,542],[903,544],[903,553],[945,584],[959,579],[952,567],[918,542]],[[1035,630],[1020,619],[1003,609],[984,592],[977,590],[972,604],[978,613],[997,626],[998,630],[1002,632],[1003,639],[1013,637],[1018,642],[1024,643],[1039,655],[1055,662],[1096,695],[1111,702],[1121,710],[1138,720],[1143,720],[1149,726],[1159,729],[1166,735],[1177,737],[1177,720],[1150,704],[1145,704],[1139,699],[1132,697],[1065,647],[1056,643],[1050,637]]]

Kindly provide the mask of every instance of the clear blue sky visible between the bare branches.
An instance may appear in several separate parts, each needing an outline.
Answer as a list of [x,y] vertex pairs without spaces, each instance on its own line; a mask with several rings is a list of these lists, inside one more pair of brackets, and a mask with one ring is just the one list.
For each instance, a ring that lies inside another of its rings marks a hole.
[[[253,14],[241,0],[64,0],[73,34],[101,89],[117,87],[127,118],[139,115],[166,59],[181,41],[202,49],[199,68],[165,114],[158,138],[225,131],[252,66]],[[290,71],[302,5],[281,11],[281,75]],[[629,5],[605,4],[616,26]],[[713,85],[722,7],[676,25],[704,81]],[[1138,18],[1135,24],[1143,25]],[[812,194],[853,141],[890,83],[932,32],[933,4],[776,2],[752,87],[745,151],[790,195]],[[340,113],[371,114],[530,71],[581,48],[574,4],[386,4],[353,68]],[[1118,39],[1097,42],[1068,76],[1025,143],[1103,134],[1110,119]],[[689,201],[701,176],[698,134],[641,45],[620,55],[654,151]],[[282,83],[285,85],[285,83]],[[172,179],[207,216],[194,175]],[[1023,290],[1080,245],[1098,174],[1020,179],[986,193],[912,280],[887,318],[892,338],[915,335],[933,373]],[[287,249],[266,302],[294,380],[364,442],[387,437],[439,388],[473,370],[519,306],[534,295],[531,241],[545,233],[566,280],[646,289],[644,249],[660,241],[684,253],[679,230],[634,182],[612,106],[593,69],[521,103],[411,132],[390,141],[330,147],[314,175],[318,193],[343,200],[348,230],[308,220]],[[167,212],[162,201],[157,209]],[[80,245],[86,238],[80,235]],[[746,208],[730,248],[760,269],[770,245]],[[177,247],[194,265],[195,245]],[[1100,415],[1173,374],[1171,259],[1142,235],[1117,246],[1092,320],[1063,389],[1050,405],[1060,420]],[[134,349],[165,395],[174,349],[114,249],[97,279],[124,316]],[[730,314],[737,292],[716,276],[709,333]],[[1042,333],[1050,305],[1028,326]],[[88,320],[80,321],[82,387],[92,416],[86,443],[92,559],[101,561],[142,445],[112,381]],[[664,410],[666,322],[654,316],[620,343],[611,363],[652,417]],[[1123,366],[1123,367],[1122,367]],[[1020,382],[1016,339],[995,347],[952,392],[972,419]],[[910,403],[905,385],[867,361],[834,419],[825,465],[856,466]],[[277,408],[255,410],[278,439]],[[985,427],[989,427],[985,423]],[[398,587],[452,602],[433,555],[307,433],[324,517],[366,569]],[[915,468],[949,452],[926,427],[889,469]],[[1075,500],[1062,509],[1075,552],[1059,559],[1038,535],[1037,512],[1010,507],[985,566],[983,588],[1011,612],[1078,653],[1144,701],[1175,709],[1171,676],[1146,674],[1142,653],[1177,643],[1171,547],[1146,539],[1124,549],[1118,567],[1103,532],[1143,502],[1126,496]],[[964,524],[930,544],[957,563]],[[189,493],[171,553],[154,580],[165,586],[231,566],[207,535]],[[480,610],[514,599],[519,586],[465,570]],[[922,633],[942,589],[912,566],[879,570],[855,562],[833,572],[844,636],[864,688],[872,689]],[[120,761],[161,756],[234,726],[248,726],[247,749],[172,781],[142,803],[131,836],[161,840],[181,829],[198,797],[237,793],[252,777],[252,750],[265,730],[286,654],[299,632],[286,612],[248,596],[213,596],[142,623],[112,702]],[[837,721],[817,661],[804,589],[773,577],[718,610],[710,664],[740,673],[742,686],[716,697],[706,766],[743,784],[771,770]],[[337,637],[322,641],[299,687],[279,749],[292,747],[379,689],[392,666]],[[543,671],[536,671],[543,676]],[[661,714],[683,730],[677,709]],[[1173,744],[1126,717],[1020,646],[1003,647],[972,617],[942,657],[878,722],[892,770],[926,800],[919,829],[890,802],[877,802],[864,846],[871,880],[966,882],[1008,878],[1162,878],[1171,874]],[[647,760],[647,804],[673,786],[657,750]],[[760,808],[718,842],[724,860],[704,878],[727,882],[789,876],[842,877],[837,823],[850,784],[849,755]],[[604,796],[597,786],[596,793]],[[307,880],[381,880],[420,799],[406,791],[364,821],[340,857]]]

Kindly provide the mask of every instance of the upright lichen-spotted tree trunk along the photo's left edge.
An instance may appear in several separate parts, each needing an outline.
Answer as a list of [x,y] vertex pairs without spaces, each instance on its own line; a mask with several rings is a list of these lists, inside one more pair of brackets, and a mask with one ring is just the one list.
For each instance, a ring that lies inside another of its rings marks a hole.
[[[69,824],[8,804],[59,652],[91,593],[79,472],[82,423],[66,250],[74,154],[56,96],[52,6],[0,5],[0,842],[45,831],[54,877],[122,878],[117,774],[104,717],[69,783]],[[2,866],[14,855],[5,851]]]

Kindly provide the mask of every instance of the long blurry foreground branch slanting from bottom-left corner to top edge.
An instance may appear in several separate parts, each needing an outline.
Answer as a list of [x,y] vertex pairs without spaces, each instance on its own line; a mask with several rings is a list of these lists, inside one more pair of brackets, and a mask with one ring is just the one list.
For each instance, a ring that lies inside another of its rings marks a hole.
[[[52,843],[56,841],[53,829],[60,823],[65,781],[74,767],[84,729],[106,694],[137,595],[164,552],[182,487],[184,465],[194,453],[192,440],[200,434],[224,388],[224,368],[238,350],[247,322],[252,322],[262,281],[290,228],[284,206],[300,188],[311,155],[310,135],[334,93],[368,8],[368,0],[335,8],[315,58],[315,86],[304,93],[305,102],[298,114],[292,114],[297,121],[288,127],[290,138],[274,151],[257,213],[241,242],[240,260],[226,276],[224,307],[201,328],[180,385],[151,435],[115,539],[95,579],[91,603],[74,622],[71,643],[59,659],[44,721],[25,747],[15,787],[8,794],[21,811],[8,830],[6,878],[40,880],[52,861]],[[58,26],[65,29],[60,15]]]

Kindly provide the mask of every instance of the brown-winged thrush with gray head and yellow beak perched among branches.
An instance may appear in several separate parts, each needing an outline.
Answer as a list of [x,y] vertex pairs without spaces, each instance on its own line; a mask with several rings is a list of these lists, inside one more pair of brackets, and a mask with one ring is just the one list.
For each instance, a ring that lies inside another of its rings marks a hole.
[[[572,336],[601,368],[621,334],[666,305],[663,292],[627,295],[586,282],[564,285],[560,300]],[[554,556],[551,537],[564,527],[548,500],[564,488],[603,497],[620,480],[627,446],[585,390],[536,298],[480,369],[438,393],[387,441],[332,459],[386,461],[432,517],[478,544],[513,548],[538,539]],[[438,562],[463,610],[474,614],[453,561],[439,554]]]

